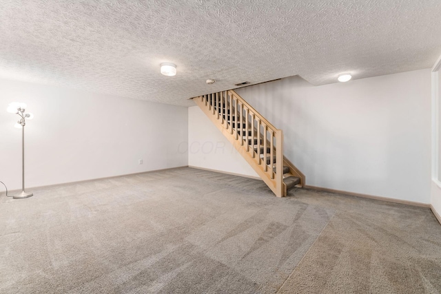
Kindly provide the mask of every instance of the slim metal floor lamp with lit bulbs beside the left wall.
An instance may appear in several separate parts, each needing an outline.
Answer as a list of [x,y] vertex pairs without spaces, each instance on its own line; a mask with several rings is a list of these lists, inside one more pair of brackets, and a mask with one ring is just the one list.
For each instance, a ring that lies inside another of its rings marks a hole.
[[15,124],[18,129],[21,128],[21,193],[13,196],[14,199],[28,198],[33,196],[33,193],[25,191],[25,125],[26,118],[32,119],[33,114],[25,114],[25,103],[12,102],[8,105],[8,112],[12,114],[17,114],[20,116],[20,120]]

